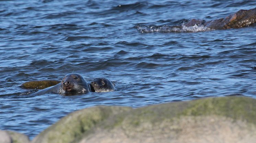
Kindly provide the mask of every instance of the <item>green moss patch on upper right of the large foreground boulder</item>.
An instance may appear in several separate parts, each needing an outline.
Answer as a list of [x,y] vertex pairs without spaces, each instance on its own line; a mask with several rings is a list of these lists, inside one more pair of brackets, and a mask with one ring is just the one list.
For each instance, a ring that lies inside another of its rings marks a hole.
[[256,100],[248,97],[205,98],[188,102],[180,115],[221,115],[256,124]]

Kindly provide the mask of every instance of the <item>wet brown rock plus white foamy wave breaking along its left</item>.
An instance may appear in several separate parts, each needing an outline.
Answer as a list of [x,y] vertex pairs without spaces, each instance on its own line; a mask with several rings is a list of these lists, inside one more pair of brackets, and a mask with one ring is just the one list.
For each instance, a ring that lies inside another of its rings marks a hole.
[[256,8],[250,10],[239,10],[224,18],[215,20],[183,19],[182,23],[175,26],[162,25],[137,25],[138,31],[144,32],[199,32],[209,30],[223,30],[230,28],[241,28],[256,23]]

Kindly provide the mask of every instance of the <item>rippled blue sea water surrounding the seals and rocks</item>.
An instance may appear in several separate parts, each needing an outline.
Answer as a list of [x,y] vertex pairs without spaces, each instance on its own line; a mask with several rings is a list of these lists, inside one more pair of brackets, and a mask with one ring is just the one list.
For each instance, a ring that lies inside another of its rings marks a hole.
[[[168,31],[168,26],[187,19],[217,19],[255,4],[253,0],[0,1],[0,129],[33,139],[68,113],[95,105],[137,108],[237,94],[255,98],[255,25]],[[31,80],[61,80],[71,72],[88,82],[107,77],[117,91],[30,96],[34,90],[20,87]]]

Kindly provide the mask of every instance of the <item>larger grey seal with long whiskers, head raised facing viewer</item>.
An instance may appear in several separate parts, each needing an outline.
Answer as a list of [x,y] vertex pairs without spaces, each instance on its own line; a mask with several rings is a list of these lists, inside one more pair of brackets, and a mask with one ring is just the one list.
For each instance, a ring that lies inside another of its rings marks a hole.
[[70,73],[62,78],[61,82],[55,86],[39,90],[32,95],[44,95],[46,93],[56,94],[75,94],[89,92],[89,86],[86,80],[78,73]]

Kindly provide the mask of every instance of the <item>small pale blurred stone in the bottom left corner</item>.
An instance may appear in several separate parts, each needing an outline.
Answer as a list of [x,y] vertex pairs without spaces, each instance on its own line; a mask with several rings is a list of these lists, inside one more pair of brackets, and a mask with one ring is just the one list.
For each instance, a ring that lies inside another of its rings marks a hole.
[[12,131],[0,130],[0,143],[28,143],[26,135]]

